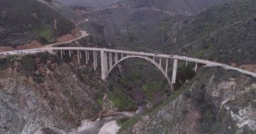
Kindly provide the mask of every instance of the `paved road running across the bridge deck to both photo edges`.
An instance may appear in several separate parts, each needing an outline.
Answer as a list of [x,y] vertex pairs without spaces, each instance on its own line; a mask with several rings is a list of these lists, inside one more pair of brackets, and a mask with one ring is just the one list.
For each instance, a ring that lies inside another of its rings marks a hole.
[[[230,70],[236,70],[238,72],[241,72],[243,74],[249,74],[253,77],[256,77],[255,72],[250,72],[247,70],[243,70],[241,68],[235,68],[233,66],[229,66],[227,64],[222,64],[218,62],[212,62],[209,60],[201,60],[198,58],[189,58],[185,56],[177,56],[177,55],[168,55],[168,54],[154,54],[154,53],[146,53],[146,52],[134,52],[134,51],[126,51],[126,50],[113,50],[113,49],[106,49],[106,48],[85,48],[85,47],[59,47],[59,48],[53,48],[53,47],[45,47],[45,48],[37,48],[37,49],[31,49],[31,50],[20,50],[23,51],[23,54],[34,54],[38,52],[43,52],[47,50],[89,50],[89,51],[104,51],[104,52],[113,52],[113,53],[121,53],[121,54],[131,54],[131,55],[139,55],[139,56],[154,56],[158,58],[171,58],[171,59],[178,59],[188,62],[197,62],[200,64],[206,64],[207,66],[222,66],[223,68],[230,69]],[[18,54],[17,51],[11,51],[11,52],[1,52],[0,54]]]

